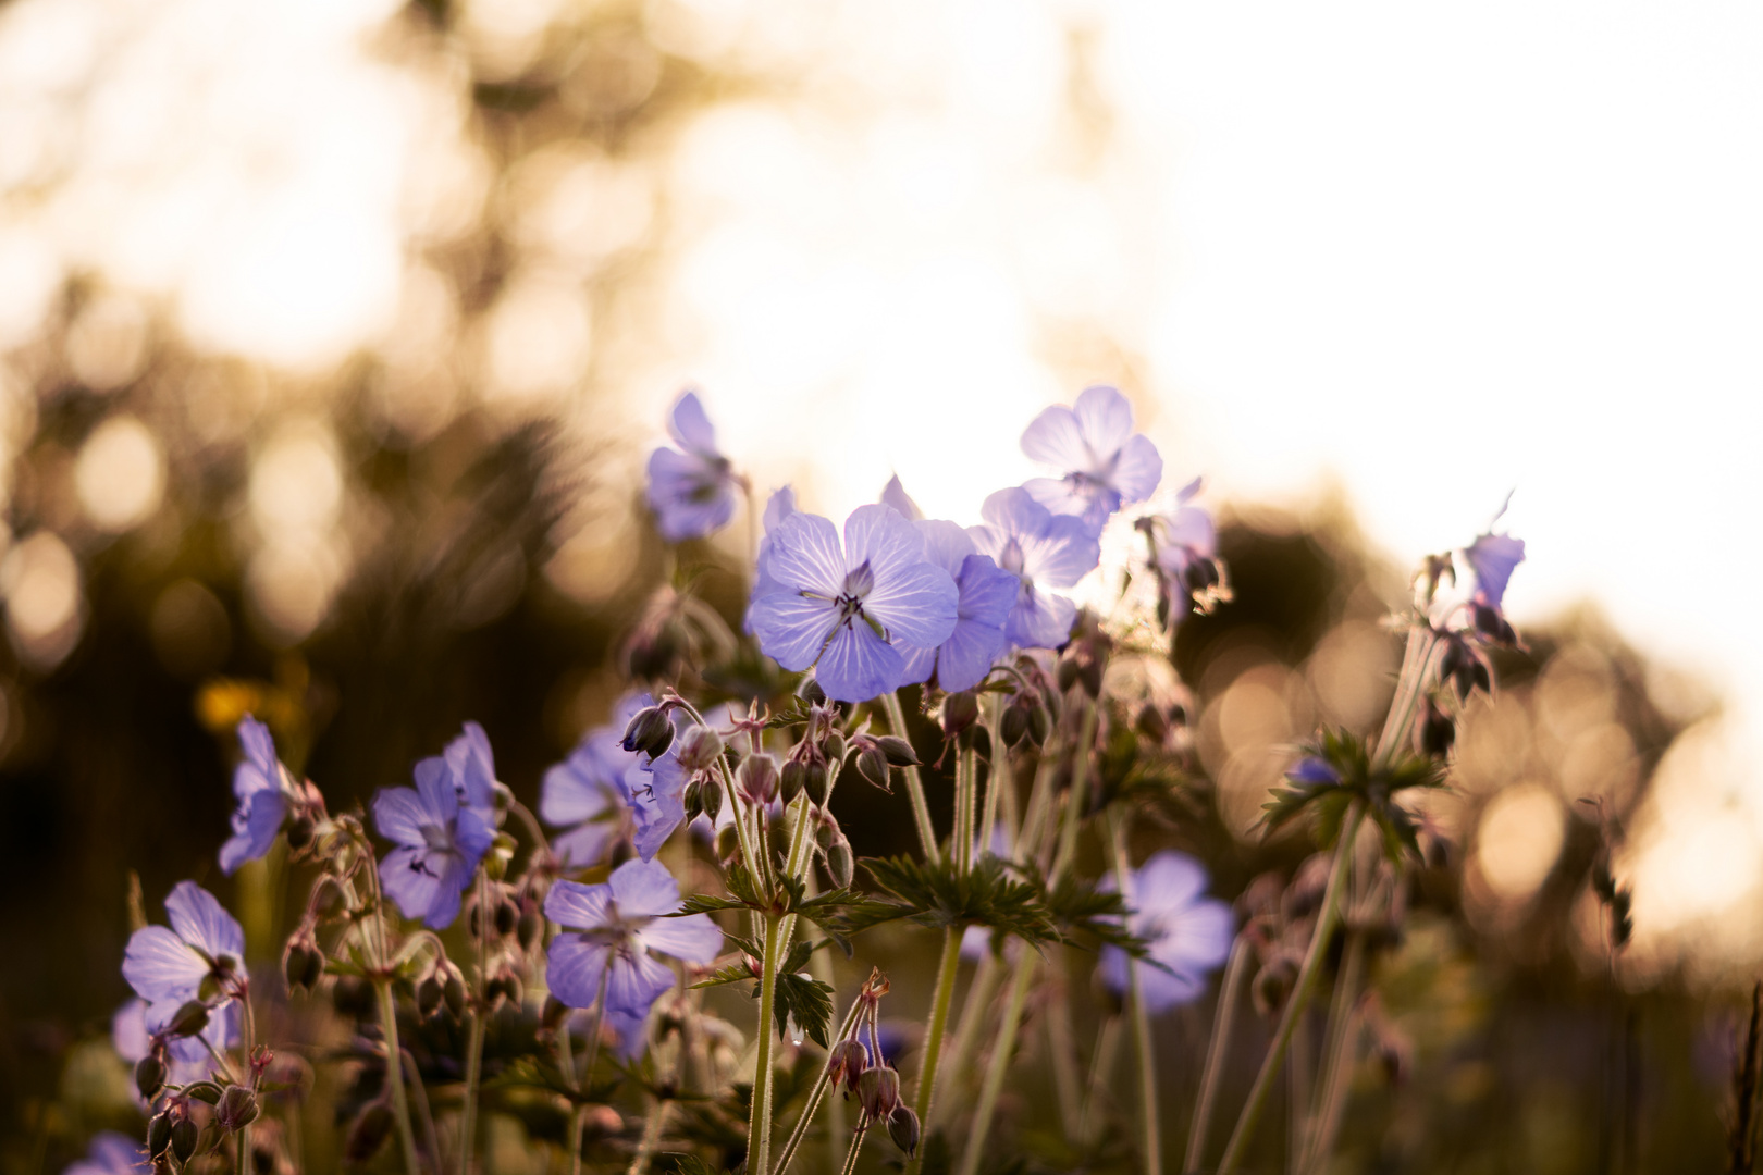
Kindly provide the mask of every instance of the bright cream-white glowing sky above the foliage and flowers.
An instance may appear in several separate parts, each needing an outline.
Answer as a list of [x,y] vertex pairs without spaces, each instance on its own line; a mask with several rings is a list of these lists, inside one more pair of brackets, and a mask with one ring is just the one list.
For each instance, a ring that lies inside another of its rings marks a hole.
[[[531,30],[557,5],[469,7],[471,26]],[[481,199],[460,79],[376,58],[386,4],[252,11],[0,12],[0,342],[72,268],[284,366],[384,336],[400,280],[409,303],[398,250]],[[726,447],[811,507],[843,513],[899,472],[933,514],[973,520],[1031,472],[1015,439],[1044,403],[1127,372],[1172,484],[1303,507],[1335,483],[1398,560],[1467,541],[1516,490],[1520,624],[1592,599],[1728,692],[1671,876],[1719,858],[1715,890],[1758,883],[1763,629],[1717,601],[1763,573],[1745,513],[1763,502],[1763,9],[649,14],[668,51],[790,85],[626,171],[569,173],[592,173],[596,199],[636,192],[638,229],[645,185],[672,185],[652,340],[614,368],[633,467],[691,382]],[[69,106],[90,78],[97,97]],[[71,136],[72,197],[25,199]],[[146,167],[166,157],[182,162]],[[534,266],[510,294],[492,389],[568,410],[568,372],[547,365],[626,336],[589,329],[568,275]]]

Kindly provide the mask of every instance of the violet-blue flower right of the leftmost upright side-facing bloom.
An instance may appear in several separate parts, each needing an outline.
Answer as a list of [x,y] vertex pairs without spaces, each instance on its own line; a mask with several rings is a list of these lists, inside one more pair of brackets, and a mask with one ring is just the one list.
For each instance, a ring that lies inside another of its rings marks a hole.
[[444,757],[416,765],[416,787],[381,787],[374,826],[398,847],[379,863],[379,884],[405,918],[443,930],[458,918],[458,895],[471,884],[495,833],[460,793]]

